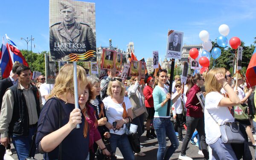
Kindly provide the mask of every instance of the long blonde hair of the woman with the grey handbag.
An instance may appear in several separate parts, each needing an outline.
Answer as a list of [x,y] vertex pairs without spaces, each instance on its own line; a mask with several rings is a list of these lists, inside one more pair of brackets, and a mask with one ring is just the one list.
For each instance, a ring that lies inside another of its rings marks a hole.
[[225,68],[213,68],[207,73],[207,76],[204,77],[204,86],[206,90],[205,94],[216,91],[221,92],[222,85],[215,78],[215,74],[217,73],[222,73],[223,75],[225,75],[226,70]]

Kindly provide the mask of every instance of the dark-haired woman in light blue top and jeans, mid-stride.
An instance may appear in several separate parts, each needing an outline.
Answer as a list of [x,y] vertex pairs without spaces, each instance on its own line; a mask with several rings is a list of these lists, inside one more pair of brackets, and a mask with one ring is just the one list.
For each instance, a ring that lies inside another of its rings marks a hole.
[[[167,111],[167,102],[171,98],[164,84],[167,81],[167,70],[160,69],[157,72],[157,86],[153,90],[154,99],[154,128],[157,133],[159,148],[157,151],[157,160],[169,160],[172,154],[179,146],[173,124],[170,120],[170,111]],[[181,91],[171,100],[171,105],[180,97]],[[172,145],[166,150],[166,135]]]

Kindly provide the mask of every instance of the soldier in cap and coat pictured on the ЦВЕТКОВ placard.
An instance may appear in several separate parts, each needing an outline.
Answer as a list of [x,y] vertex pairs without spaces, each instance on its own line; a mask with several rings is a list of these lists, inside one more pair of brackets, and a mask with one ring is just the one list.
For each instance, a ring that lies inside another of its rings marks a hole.
[[[76,6],[67,0],[54,2],[58,3],[54,6],[58,6],[59,15],[50,14],[50,19],[60,18],[49,28],[51,61],[68,60],[70,53],[96,51],[96,37],[93,30],[88,22],[77,20]],[[57,10],[57,7],[52,9]],[[95,57],[95,59],[91,58],[89,60],[96,61]]]

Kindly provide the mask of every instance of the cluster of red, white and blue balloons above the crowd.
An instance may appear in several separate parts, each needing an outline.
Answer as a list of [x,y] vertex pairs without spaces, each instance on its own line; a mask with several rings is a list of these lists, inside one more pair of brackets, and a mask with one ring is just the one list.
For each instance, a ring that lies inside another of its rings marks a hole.
[[[227,40],[227,35],[230,32],[230,29],[228,25],[220,25],[218,28],[219,33],[221,36],[217,38],[217,44],[219,47],[227,47],[228,45],[228,40]],[[209,33],[205,30],[201,31],[199,33],[199,38],[203,41],[203,48],[204,51],[201,53],[200,58],[199,58],[199,64],[202,67],[209,67],[210,65],[210,58],[212,56],[213,59],[217,59],[218,57],[221,56],[221,49],[218,47],[212,48],[212,42],[209,40]],[[241,45],[241,41],[238,37],[234,36],[230,39],[229,41],[231,48],[237,49],[238,46]],[[211,51],[212,50],[212,51]],[[210,52],[211,51],[211,52]],[[189,56],[192,59],[196,59],[199,55],[198,49],[192,48],[189,50]]]

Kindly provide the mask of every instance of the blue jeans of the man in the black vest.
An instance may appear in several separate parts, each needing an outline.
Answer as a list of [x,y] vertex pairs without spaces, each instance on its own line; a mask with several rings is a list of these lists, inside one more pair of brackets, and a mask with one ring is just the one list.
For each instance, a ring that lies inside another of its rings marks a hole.
[[[32,143],[32,136],[35,134],[35,127],[29,128],[28,136],[12,135],[12,143],[17,151],[19,160],[25,160],[29,157],[29,150]],[[35,155],[32,155],[35,156]]]

